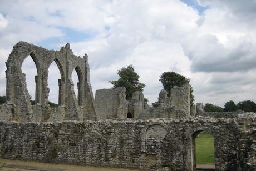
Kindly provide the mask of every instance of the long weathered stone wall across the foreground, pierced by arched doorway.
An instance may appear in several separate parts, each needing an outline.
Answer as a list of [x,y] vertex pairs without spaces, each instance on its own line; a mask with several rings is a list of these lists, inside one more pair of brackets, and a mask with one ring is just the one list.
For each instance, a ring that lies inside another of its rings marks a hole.
[[8,159],[191,170],[191,138],[202,130],[214,137],[216,170],[237,170],[238,124],[224,118],[0,122],[0,150]]

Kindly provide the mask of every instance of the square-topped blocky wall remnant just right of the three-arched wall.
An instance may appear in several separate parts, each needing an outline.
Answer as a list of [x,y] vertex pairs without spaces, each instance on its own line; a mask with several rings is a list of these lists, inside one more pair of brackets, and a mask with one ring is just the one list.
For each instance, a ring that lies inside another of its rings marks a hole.
[[127,118],[125,87],[96,90],[95,101],[100,119]]

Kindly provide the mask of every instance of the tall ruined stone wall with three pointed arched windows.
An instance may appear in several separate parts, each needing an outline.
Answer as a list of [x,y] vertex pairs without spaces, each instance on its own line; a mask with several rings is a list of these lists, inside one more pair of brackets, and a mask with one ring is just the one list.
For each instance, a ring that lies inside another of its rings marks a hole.
[[[36,81],[36,105],[33,107],[29,101],[29,94],[26,88],[26,81],[21,71],[24,59],[31,55],[36,64],[37,76]],[[63,118],[61,120],[83,120],[83,118],[97,118],[93,102],[93,95],[85,95],[85,89],[91,90],[88,85],[87,73],[87,56],[81,58],[73,55],[70,45],[66,44],[60,51],[48,51],[42,47],[37,47],[26,42],[18,42],[9,55],[6,62],[7,71],[7,103],[16,105],[14,120],[29,121],[47,121],[51,108],[48,105],[49,88],[47,87],[48,67],[55,61],[60,69],[61,78],[59,82],[59,107],[63,108]],[[73,82],[71,74],[73,69],[78,71],[80,78],[78,100],[73,91]],[[91,102],[91,105],[87,103]],[[85,105],[86,108],[85,110]],[[42,109],[40,109],[40,107]],[[45,112],[41,112],[45,111]],[[33,116],[35,115],[35,117]],[[90,115],[91,117],[88,117]],[[41,118],[40,120],[38,120]]]

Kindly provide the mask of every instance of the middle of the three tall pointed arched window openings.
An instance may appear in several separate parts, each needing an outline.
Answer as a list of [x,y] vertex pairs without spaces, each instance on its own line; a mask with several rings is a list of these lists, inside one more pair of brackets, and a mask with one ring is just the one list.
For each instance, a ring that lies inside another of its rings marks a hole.
[[51,107],[57,107],[60,104],[60,81],[61,73],[55,59],[48,68],[48,88],[50,88],[48,104]]

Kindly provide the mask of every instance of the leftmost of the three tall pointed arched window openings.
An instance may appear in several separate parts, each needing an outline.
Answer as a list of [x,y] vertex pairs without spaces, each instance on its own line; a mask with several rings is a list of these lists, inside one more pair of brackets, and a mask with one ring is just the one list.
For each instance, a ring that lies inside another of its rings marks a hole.
[[23,73],[24,80],[26,82],[31,104],[36,104],[37,68],[31,55],[27,56],[27,58],[24,59],[21,70]]

